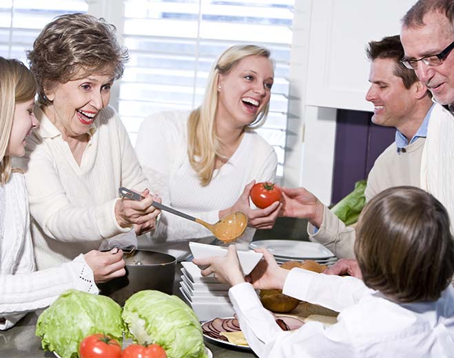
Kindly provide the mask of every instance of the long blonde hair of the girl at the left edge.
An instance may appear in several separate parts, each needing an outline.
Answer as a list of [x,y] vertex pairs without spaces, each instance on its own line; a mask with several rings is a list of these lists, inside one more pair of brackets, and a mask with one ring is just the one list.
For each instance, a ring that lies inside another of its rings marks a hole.
[[0,57],[0,185],[10,179],[11,161],[6,155],[16,103],[33,99],[37,84],[21,61]]

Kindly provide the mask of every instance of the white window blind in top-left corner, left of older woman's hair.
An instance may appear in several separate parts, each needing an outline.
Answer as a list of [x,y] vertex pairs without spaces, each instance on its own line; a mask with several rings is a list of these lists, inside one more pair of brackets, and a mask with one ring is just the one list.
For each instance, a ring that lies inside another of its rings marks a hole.
[[61,14],[87,10],[85,0],[1,0],[0,56],[26,63],[25,50],[47,23]]

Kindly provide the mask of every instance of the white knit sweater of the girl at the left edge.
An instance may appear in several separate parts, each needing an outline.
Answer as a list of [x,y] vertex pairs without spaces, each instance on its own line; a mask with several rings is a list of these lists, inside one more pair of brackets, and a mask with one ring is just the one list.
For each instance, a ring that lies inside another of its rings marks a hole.
[[[19,173],[12,174],[0,195],[0,206],[5,208],[0,217],[0,317],[6,323],[0,330],[16,324],[25,312],[44,308],[61,294],[74,288],[97,293],[93,272],[83,255],[63,265],[35,270],[25,180]],[[1,210],[0,210],[1,212]]]

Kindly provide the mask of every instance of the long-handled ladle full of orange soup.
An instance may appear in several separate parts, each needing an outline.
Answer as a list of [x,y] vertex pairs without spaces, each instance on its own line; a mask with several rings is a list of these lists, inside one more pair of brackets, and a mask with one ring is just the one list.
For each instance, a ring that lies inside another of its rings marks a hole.
[[[119,188],[118,192],[122,197],[125,197],[127,199],[136,201],[145,199],[142,195],[127,188]],[[185,219],[196,221],[196,223],[200,223],[201,225],[205,226],[205,228],[210,230],[217,239],[226,243],[235,241],[236,239],[238,239],[238,237],[243,235],[243,232],[245,232],[247,226],[247,216],[244,212],[240,211],[225,215],[225,217],[222,217],[217,223],[207,223],[203,220],[197,219],[196,217],[187,215],[184,212],[175,210],[174,208],[169,208],[169,206],[165,206],[161,203],[156,203],[156,201],[152,202],[152,206],[161,210],[165,210],[167,212],[171,212],[172,214],[178,215],[179,217],[184,217]]]

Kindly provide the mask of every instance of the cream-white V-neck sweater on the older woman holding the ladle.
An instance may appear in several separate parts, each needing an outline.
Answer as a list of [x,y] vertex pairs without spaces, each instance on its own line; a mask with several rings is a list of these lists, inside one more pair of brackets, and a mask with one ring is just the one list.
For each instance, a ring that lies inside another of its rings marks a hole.
[[104,238],[130,228],[116,222],[118,188],[149,188],[121,119],[113,108],[99,112],[79,166],[61,132],[35,110],[41,126],[28,140],[25,172],[32,237],[39,270],[99,248]]

